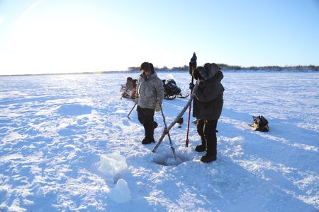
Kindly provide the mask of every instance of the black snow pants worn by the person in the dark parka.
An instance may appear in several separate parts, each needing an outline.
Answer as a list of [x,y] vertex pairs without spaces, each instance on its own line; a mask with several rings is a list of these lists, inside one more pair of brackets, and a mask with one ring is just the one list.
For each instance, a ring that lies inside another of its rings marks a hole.
[[218,120],[197,120],[197,132],[201,136],[201,144],[206,146],[207,154],[217,156],[216,126]]

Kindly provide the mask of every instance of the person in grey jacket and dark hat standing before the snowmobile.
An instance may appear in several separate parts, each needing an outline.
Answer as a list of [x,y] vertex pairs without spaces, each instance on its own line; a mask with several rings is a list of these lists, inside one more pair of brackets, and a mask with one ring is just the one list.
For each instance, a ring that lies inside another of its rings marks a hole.
[[154,129],[157,122],[154,122],[155,110],[161,110],[164,98],[163,82],[157,77],[153,64],[144,62],[140,66],[135,102],[138,104],[138,120],[145,129],[145,138],[142,144],[154,143]]

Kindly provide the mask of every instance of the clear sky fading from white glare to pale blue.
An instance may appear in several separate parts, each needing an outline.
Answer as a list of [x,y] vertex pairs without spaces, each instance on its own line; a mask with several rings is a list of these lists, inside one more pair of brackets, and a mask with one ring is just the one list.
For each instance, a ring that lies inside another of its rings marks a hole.
[[318,0],[0,0],[0,74],[319,65]]

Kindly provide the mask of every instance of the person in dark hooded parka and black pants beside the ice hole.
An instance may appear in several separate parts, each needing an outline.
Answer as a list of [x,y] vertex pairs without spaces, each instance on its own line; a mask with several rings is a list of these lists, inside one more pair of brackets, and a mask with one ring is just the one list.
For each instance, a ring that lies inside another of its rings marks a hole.
[[223,109],[224,87],[220,83],[223,73],[216,64],[198,66],[193,77],[199,81],[193,103],[193,117],[197,118],[197,131],[201,136],[201,145],[195,151],[206,151],[201,157],[203,163],[216,160],[217,137],[216,126]]

